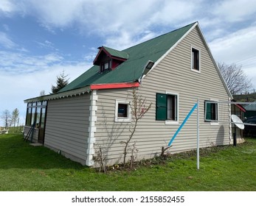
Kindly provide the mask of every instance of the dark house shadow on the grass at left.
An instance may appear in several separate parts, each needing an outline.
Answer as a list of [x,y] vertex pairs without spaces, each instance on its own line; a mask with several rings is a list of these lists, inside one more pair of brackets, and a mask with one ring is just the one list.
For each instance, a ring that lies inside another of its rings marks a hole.
[[44,146],[31,146],[23,135],[0,135],[0,168],[74,168],[88,167],[75,163]]

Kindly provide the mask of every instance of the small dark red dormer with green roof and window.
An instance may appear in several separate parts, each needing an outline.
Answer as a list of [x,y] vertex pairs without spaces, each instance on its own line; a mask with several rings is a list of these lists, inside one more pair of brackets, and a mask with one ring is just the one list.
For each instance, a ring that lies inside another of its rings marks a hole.
[[105,46],[98,49],[98,54],[93,63],[100,66],[100,73],[110,69],[114,70],[118,65],[128,60],[128,53],[125,51],[118,51]]

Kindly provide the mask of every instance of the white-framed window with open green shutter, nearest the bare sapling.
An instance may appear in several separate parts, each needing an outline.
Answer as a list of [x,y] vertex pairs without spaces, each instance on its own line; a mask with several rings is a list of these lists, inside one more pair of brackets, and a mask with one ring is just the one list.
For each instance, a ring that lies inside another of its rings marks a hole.
[[156,120],[179,124],[179,94],[156,93]]

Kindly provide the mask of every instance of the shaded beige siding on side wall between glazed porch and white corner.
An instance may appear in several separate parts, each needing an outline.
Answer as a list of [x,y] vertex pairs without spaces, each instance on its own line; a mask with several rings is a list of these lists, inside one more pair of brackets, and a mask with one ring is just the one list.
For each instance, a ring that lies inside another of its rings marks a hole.
[[90,95],[51,100],[47,106],[44,145],[85,164]]

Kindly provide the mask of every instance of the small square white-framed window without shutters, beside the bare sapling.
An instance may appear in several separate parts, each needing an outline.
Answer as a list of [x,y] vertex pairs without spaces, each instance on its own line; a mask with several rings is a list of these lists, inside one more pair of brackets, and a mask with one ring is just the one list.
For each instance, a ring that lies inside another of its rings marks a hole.
[[131,121],[130,102],[116,100],[115,121]]

